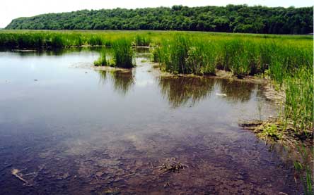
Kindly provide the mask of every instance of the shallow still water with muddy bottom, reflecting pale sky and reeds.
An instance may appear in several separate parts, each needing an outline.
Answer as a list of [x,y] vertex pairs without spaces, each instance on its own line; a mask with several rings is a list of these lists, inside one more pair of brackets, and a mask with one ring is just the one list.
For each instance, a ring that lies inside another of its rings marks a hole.
[[86,68],[98,56],[0,53],[0,194],[301,193],[285,151],[238,126],[276,114],[261,84],[158,77],[146,50]]

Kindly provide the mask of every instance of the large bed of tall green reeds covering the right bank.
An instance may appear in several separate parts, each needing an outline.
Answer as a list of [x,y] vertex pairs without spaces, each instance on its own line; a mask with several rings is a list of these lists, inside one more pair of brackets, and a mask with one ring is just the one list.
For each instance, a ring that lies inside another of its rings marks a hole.
[[175,74],[231,71],[238,78],[267,75],[286,91],[286,120],[296,134],[313,128],[313,40],[257,37],[200,38],[174,34],[153,48],[153,61]]

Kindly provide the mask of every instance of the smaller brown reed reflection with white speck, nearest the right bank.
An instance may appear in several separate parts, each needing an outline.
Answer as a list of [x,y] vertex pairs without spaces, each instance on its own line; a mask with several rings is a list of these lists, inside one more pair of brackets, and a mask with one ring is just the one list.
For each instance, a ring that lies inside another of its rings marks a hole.
[[237,82],[232,80],[216,80],[219,85],[221,93],[226,94],[228,101],[249,101],[252,91],[255,89],[255,84],[249,82]]

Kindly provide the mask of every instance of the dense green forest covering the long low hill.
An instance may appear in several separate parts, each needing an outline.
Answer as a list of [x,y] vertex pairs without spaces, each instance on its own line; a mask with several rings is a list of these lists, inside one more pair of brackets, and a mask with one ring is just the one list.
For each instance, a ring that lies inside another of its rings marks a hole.
[[17,18],[6,29],[192,30],[266,34],[313,32],[313,7],[228,5],[83,10]]

